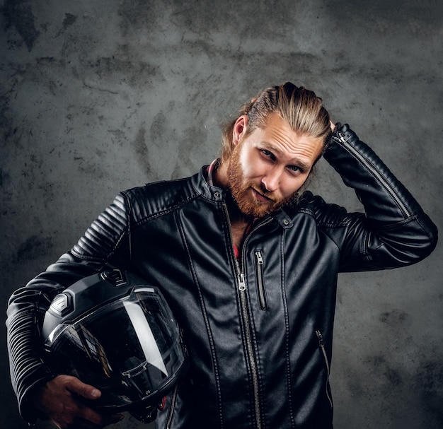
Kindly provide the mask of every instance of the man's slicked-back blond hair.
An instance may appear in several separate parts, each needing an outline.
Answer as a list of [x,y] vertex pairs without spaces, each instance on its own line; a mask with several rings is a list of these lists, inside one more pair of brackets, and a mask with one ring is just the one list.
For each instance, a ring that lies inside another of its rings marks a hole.
[[[328,111],[323,101],[311,90],[286,82],[261,91],[257,98],[243,105],[237,117],[226,124],[222,133],[222,163],[229,159],[234,149],[232,131],[238,117],[246,114],[246,136],[256,128],[264,128],[270,114],[277,113],[297,133],[323,139],[323,151],[330,137]],[[323,152],[322,152],[323,153]]]

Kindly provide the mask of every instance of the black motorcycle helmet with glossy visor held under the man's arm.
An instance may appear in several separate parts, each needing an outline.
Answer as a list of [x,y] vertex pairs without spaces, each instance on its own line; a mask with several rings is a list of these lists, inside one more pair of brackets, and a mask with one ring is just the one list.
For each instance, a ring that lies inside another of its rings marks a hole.
[[129,411],[144,423],[154,420],[187,363],[160,290],[127,271],[93,274],[57,295],[42,337],[44,360],[55,373],[100,389],[93,408]]

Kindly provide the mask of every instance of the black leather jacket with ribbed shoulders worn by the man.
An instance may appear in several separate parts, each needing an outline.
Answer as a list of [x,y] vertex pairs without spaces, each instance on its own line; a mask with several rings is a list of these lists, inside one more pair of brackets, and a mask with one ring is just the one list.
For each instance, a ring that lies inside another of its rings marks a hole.
[[239,266],[224,189],[207,184],[205,169],[119,194],[70,252],[11,297],[8,347],[22,415],[35,418],[28,393],[54,376],[39,355],[50,301],[112,266],[159,286],[184,329],[191,367],[159,428],[332,428],[338,272],[418,262],[437,230],[347,125],[324,156],[366,213],[306,192],[255,225]]

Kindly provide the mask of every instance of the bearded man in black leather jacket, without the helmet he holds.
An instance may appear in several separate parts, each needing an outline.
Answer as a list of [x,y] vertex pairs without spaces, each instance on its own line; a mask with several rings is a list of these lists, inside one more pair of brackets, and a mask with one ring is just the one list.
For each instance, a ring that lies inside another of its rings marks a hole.
[[[59,428],[120,418],[76,401],[100,392],[52,374],[38,335],[54,295],[118,267],[161,288],[190,353],[159,428],[332,428],[338,272],[418,262],[437,230],[371,149],[292,83],[245,105],[223,143],[197,175],[119,194],[70,252],[13,294],[8,345],[24,418]],[[365,213],[301,192],[323,153]]]

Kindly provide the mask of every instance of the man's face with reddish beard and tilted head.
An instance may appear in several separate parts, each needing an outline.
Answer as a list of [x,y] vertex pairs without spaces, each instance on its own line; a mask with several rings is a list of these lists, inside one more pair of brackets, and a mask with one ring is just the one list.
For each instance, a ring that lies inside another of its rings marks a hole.
[[245,137],[248,119],[241,118],[234,126],[229,188],[242,213],[260,218],[294,198],[321,154],[323,140],[295,133],[278,114]]

